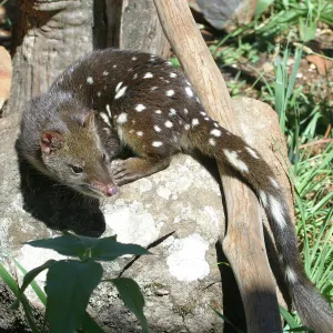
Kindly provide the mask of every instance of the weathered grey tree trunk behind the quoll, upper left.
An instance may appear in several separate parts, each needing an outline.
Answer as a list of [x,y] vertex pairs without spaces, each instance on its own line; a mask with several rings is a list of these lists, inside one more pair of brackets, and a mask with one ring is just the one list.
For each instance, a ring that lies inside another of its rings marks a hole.
[[8,113],[20,115],[28,100],[92,50],[92,6],[93,0],[19,1]]

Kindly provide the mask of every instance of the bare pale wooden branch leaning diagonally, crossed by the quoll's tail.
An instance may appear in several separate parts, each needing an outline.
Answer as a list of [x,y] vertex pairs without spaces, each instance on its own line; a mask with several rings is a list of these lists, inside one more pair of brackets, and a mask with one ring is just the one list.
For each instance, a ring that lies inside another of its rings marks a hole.
[[[195,27],[188,1],[154,0],[154,3],[163,30],[205,110],[224,128],[241,134],[225,82]],[[261,209],[251,190],[233,178],[234,173],[225,165],[218,165],[223,175],[229,222],[223,251],[240,287],[248,332],[280,332],[282,327],[263,240]]]

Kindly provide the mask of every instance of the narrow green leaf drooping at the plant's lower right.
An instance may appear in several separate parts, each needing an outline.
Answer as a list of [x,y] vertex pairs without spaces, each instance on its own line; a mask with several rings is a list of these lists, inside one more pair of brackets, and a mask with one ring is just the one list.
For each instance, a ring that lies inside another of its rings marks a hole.
[[128,278],[118,278],[105,281],[110,281],[115,285],[125,306],[132,311],[140,321],[142,332],[149,332],[147,319],[143,314],[144,299],[138,283]]

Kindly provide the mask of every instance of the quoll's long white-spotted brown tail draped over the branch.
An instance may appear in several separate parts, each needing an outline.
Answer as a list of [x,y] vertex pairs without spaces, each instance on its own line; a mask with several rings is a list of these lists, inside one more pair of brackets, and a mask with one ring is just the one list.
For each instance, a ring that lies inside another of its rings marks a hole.
[[254,189],[268,214],[286,284],[303,324],[314,329],[316,333],[333,332],[332,310],[305,276],[294,225],[272,169],[240,137],[211,120],[200,121],[199,125],[199,119],[192,119],[189,137],[202,153],[229,164]]

